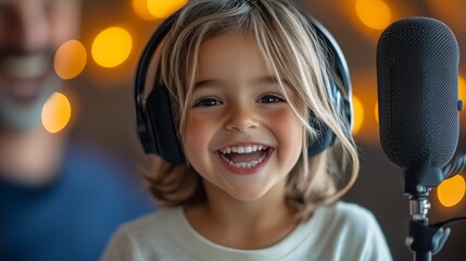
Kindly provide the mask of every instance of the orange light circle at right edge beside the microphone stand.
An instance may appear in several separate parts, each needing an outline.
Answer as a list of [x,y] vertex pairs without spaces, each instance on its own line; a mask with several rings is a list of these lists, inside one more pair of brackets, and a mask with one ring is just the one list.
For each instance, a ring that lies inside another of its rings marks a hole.
[[453,207],[463,199],[465,190],[466,184],[464,177],[455,175],[443,181],[437,187],[437,197],[444,207]]

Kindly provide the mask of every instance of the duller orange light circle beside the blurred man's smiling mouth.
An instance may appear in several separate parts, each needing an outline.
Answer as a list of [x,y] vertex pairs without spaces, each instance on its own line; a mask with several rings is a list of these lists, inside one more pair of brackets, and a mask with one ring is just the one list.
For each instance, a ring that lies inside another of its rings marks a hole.
[[83,72],[86,62],[87,52],[84,45],[78,40],[68,40],[56,50],[53,66],[60,78],[71,79]]

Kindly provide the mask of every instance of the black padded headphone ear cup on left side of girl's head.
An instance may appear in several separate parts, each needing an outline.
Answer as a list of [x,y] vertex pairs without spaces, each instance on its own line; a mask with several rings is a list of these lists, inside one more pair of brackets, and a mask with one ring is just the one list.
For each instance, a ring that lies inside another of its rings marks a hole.
[[185,163],[167,88],[163,85],[155,85],[146,105],[146,117],[150,125],[148,129],[151,129],[148,139],[152,140],[153,152],[174,164]]

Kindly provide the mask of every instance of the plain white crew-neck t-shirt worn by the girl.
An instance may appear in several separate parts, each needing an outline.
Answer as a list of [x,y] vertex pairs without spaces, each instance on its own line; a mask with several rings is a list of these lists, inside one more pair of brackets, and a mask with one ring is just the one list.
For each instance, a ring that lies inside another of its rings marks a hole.
[[101,261],[392,260],[374,215],[353,203],[322,206],[272,247],[239,250],[197,233],[182,208],[161,209],[121,227]]

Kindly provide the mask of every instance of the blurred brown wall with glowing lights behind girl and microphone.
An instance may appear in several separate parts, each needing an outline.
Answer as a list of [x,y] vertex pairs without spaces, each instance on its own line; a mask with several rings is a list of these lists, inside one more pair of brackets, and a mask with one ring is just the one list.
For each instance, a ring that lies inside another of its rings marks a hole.
[[[148,11],[147,3],[152,2],[155,9],[165,9],[166,7],[156,4],[164,2],[179,5],[182,1],[84,1],[84,27],[78,40],[87,51],[87,61],[83,71],[66,82],[66,88],[63,90],[72,105],[71,121],[65,127],[121,153],[137,164],[144,165],[150,161],[150,157],[143,156],[136,137],[133,109],[134,72],[141,49],[163,20],[163,13],[161,17],[154,17]],[[408,200],[403,195],[403,172],[387,160],[379,145],[376,120],[376,46],[381,32],[390,23],[406,16],[430,16],[449,25],[456,35],[459,50],[466,50],[464,26],[466,1],[295,0],[295,2],[330,30],[347,57],[352,75],[356,119],[354,135],[360,146],[362,169],[358,181],[344,200],[355,201],[370,209],[386,233],[394,260],[411,260],[412,254],[404,246],[410,217]],[[109,28],[111,30],[106,30]],[[114,38],[105,38],[111,37],[112,29],[115,33]],[[122,34],[122,29],[126,34],[124,32]],[[109,58],[105,55],[109,53],[111,57],[121,54],[123,57],[119,61],[108,61],[105,59]],[[466,100],[465,66],[462,57],[459,97],[463,100]],[[459,116],[462,134],[458,152],[466,149],[465,112],[461,112]],[[432,208],[429,217],[432,222],[466,215],[466,199],[463,198],[464,179],[459,179],[446,190],[452,194],[450,197],[453,197],[454,203],[451,207],[441,203],[437,189],[431,191]],[[462,251],[462,247],[465,246],[466,224],[453,224],[451,228],[450,239],[433,260],[466,260]]]

